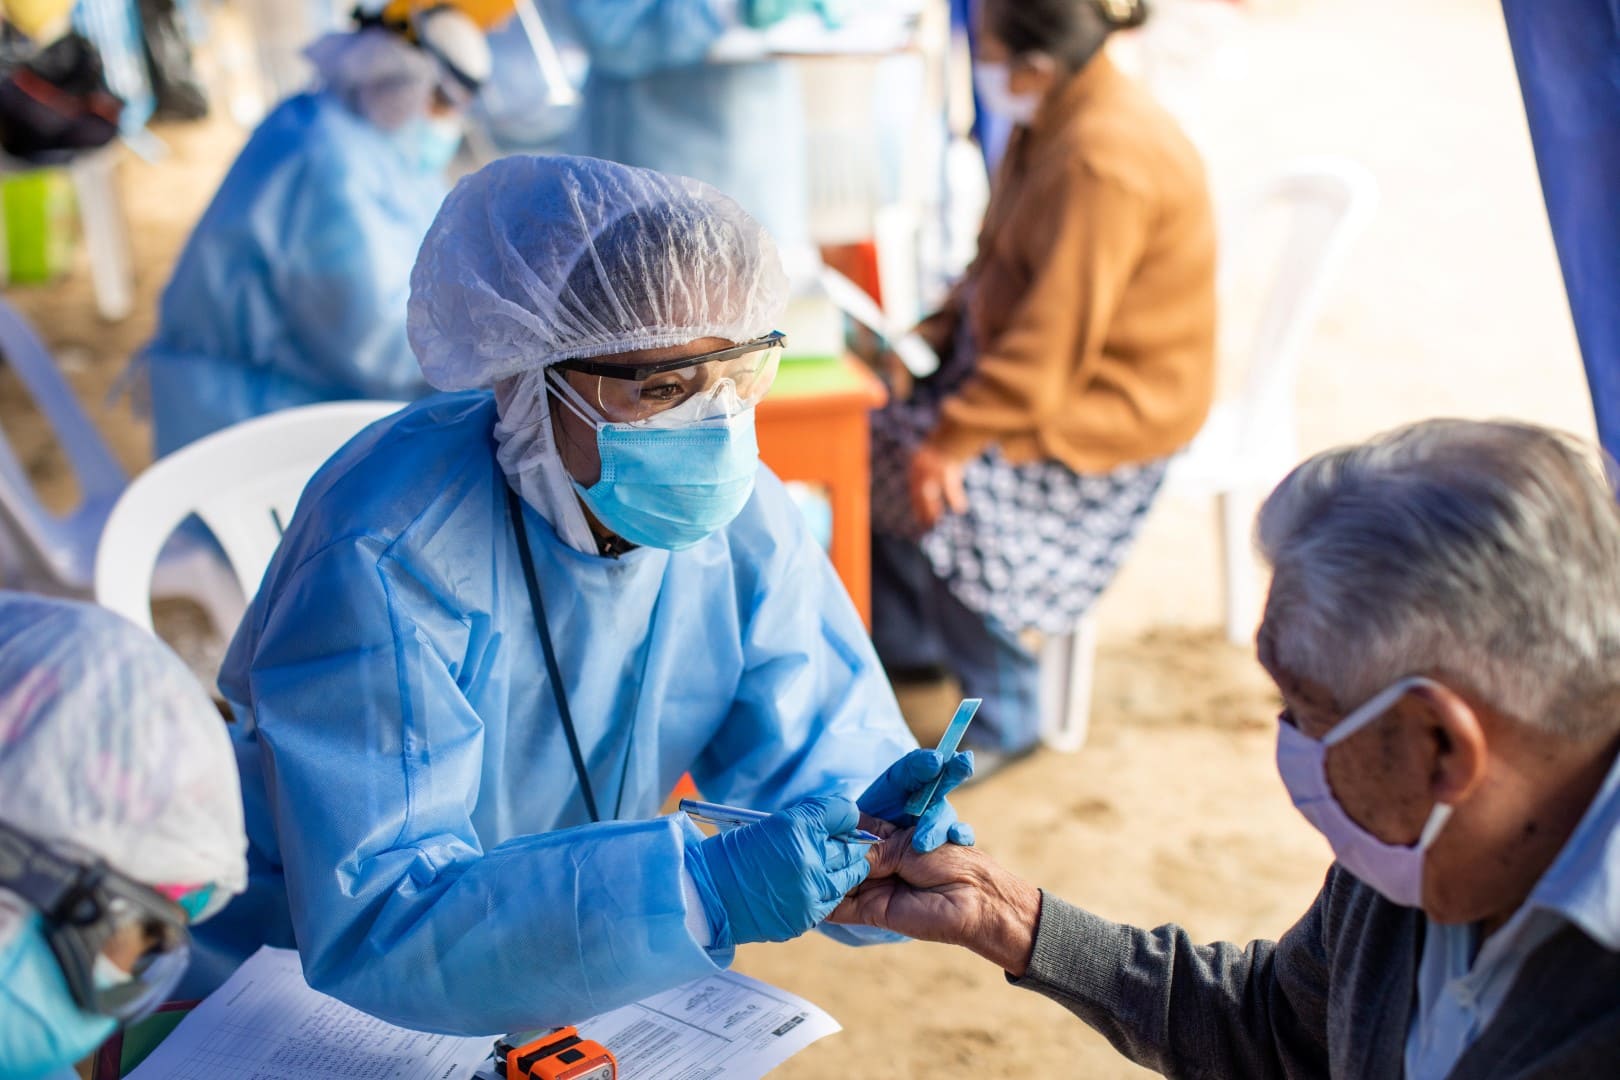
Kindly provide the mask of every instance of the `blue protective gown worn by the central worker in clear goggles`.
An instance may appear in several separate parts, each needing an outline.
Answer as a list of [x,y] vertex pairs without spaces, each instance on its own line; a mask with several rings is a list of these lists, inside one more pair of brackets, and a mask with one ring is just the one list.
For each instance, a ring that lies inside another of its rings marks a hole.
[[[682,552],[582,555],[525,510],[557,719],[494,457],[494,400],[439,395],[316,474],[220,674],[249,884],[198,928],[186,994],[258,944],[395,1023],[559,1025],[729,962],[687,931],[680,774],[774,810],[915,746],[826,555],[761,466]],[[846,929],[846,928],[834,928]]]

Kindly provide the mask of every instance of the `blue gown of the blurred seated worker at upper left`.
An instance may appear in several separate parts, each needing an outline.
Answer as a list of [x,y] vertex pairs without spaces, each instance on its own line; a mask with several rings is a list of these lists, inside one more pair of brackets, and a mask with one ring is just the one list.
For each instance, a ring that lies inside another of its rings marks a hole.
[[164,291],[146,348],[156,452],[293,405],[424,393],[405,301],[444,194],[335,97],[282,102]]

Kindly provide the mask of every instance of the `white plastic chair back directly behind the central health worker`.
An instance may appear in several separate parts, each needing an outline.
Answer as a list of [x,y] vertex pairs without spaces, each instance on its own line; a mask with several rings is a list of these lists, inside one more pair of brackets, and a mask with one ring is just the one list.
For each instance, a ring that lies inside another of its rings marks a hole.
[[316,470],[402,402],[329,402],[235,424],[175,450],[134,478],[96,552],[96,602],[152,627],[152,570],[193,513],[209,526],[243,596],[259,589],[282,529]]

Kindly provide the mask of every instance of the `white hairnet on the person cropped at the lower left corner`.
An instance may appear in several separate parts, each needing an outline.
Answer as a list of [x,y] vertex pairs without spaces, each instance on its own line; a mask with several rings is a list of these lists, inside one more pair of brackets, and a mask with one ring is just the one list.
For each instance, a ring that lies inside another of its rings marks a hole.
[[246,886],[225,721],[168,646],[91,604],[0,593],[0,821],[146,884]]

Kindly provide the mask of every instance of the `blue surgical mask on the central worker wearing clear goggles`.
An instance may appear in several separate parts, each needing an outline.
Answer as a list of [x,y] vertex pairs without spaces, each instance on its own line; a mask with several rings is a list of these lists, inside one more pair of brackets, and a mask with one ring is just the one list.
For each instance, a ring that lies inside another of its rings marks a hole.
[[[601,473],[573,489],[604,526],[642,547],[682,551],[742,513],[760,471],[753,408],[716,397],[693,400],[653,421],[606,423],[562,390],[562,400],[596,427]],[[716,416],[701,418],[714,411]]]

